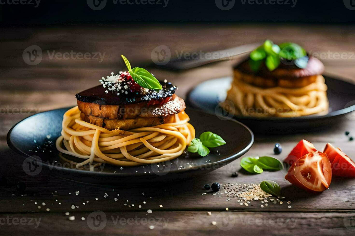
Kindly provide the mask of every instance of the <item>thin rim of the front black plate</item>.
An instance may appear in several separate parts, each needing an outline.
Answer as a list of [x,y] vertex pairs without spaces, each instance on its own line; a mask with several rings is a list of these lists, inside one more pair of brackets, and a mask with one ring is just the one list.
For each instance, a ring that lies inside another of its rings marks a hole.
[[[70,108],[73,108],[75,106],[71,106],[71,107],[64,107],[64,108],[57,108],[57,109],[51,109],[51,110],[48,110],[48,111],[41,111],[39,113],[36,113],[34,115],[31,115],[31,116],[28,116],[24,119],[22,119],[21,121],[17,122],[15,125],[13,125],[9,132],[7,132],[7,135],[6,135],[6,142],[7,142],[7,145],[9,146],[9,148],[12,150],[12,151],[15,151],[17,154],[19,154],[20,156],[22,157],[30,157],[29,155],[27,155],[26,153],[24,153],[23,151],[21,151],[20,149],[18,149],[11,141],[11,133],[12,133],[12,130],[18,125],[20,124],[21,122],[23,122],[24,120],[27,120],[29,119],[30,117],[32,116],[37,116],[38,114],[41,114],[41,113],[47,113],[47,112],[53,112],[53,111],[57,111],[57,110],[63,110],[63,109],[67,109],[69,110]],[[191,107],[190,107],[191,108]],[[200,110],[199,110],[200,111]],[[200,111],[202,113],[206,113],[208,114],[206,111]],[[211,114],[209,114],[211,115]],[[177,174],[177,173],[181,173],[181,172],[191,172],[191,171],[194,171],[195,169],[200,169],[200,168],[206,168],[206,167],[209,167],[209,166],[212,166],[212,165],[215,165],[215,164],[218,164],[218,163],[225,163],[225,165],[227,165],[228,163],[226,163],[227,161],[229,160],[236,160],[238,157],[241,157],[242,155],[246,154],[246,152],[248,152],[250,150],[250,148],[252,147],[252,145],[254,144],[254,141],[255,141],[255,138],[254,138],[254,133],[251,131],[251,129],[244,125],[243,123],[235,120],[235,119],[231,119],[232,122],[235,122],[235,123],[238,123],[239,125],[241,125],[242,127],[246,128],[247,131],[249,131],[250,133],[250,136],[251,136],[251,139],[249,140],[249,143],[247,144],[247,146],[242,149],[241,151],[229,156],[229,157],[226,157],[225,159],[222,159],[222,160],[219,160],[219,161],[215,161],[215,162],[210,162],[210,163],[206,163],[206,164],[203,164],[203,165],[199,165],[199,166],[193,166],[193,167],[189,167],[189,168],[184,168],[184,169],[180,169],[180,170],[175,170],[175,171],[169,171],[168,173],[166,173],[166,175],[168,174]],[[58,137],[57,137],[58,138]],[[50,170],[54,170],[54,171],[64,171],[64,172],[68,172],[68,173],[75,173],[75,174],[83,174],[82,176],[88,176],[88,175],[92,175],[92,176],[100,176],[100,177],[104,177],[104,176],[108,176],[108,177],[152,177],[152,176],[158,176],[157,174],[154,174],[154,172],[152,172],[151,174],[143,174],[143,173],[139,173],[139,174],[135,174],[135,175],[131,175],[129,173],[114,173],[114,172],[95,172],[95,171],[86,171],[86,170],[81,170],[81,169],[70,169],[70,168],[65,168],[65,167],[62,167],[62,166],[59,166],[59,167],[56,167],[56,168],[49,168],[49,167],[52,167],[50,166],[47,162],[43,162],[42,160],[40,160],[40,163],[42,164],[42,166],[45,166],[46,168],[50,169]],[[223,167],[223,166],[221,166]],[[219,169],[220,167],[218,167],[217,169]],[[207,169],[207,168],[206,168]],[[164,175],[163,175],[164,176]]]

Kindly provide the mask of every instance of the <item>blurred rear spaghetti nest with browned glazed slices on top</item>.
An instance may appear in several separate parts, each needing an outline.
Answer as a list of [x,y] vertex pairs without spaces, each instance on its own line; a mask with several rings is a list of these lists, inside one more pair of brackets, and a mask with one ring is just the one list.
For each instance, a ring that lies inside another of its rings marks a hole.
[[234,68],[226,102],[245,116],[296,117],[326,114],[329,103],[322,73],[324,65],[310,57],[307,67],[281,63],[273,71],[265,65],[254,72],[248,61]]

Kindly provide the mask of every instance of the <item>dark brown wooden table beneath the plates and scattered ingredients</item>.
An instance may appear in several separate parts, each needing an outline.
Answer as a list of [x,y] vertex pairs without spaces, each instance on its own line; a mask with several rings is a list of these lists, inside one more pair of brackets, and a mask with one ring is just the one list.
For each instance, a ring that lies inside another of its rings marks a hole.
[[[322,60],[326,65],[326,73],[355,80],[354,27],[248,24],[155,24],[144,27],[87,25],[6,28],[1,29],[1,34],[0,157],[3,162],[0,177],[5,178],[0,183],[0,234],[345,235],[353,232],[350,229],[354,229],[351,227],[355,212],[354,179],[334,177],[329,190],[322,194],[306,194],[288,183],[282,171],[258,175],[248,175],[240,171],[239,159],[210,174],[168,185],[154,183],[132,186],[122,183],[121,186],[97,186],[58,178],[48,169],[43,169],[34,177],[25,174],[21,157],[6,144],[6,134],[12,125],[36,111],[75,105],[76,92],[97,85],[100,77],[124,68],[120,54],[126,55],[133,66],[146,67],[151,64],[153,48],[159,45],[168,46],[172,54],[175,51],[180,54],[200,50],[207,52],[262,42],[265,39],[275,42],[293,41],[308,51],[326,53],[328,56]],[[43,58],[38,65],[30,66],[22,59],[24,49],[31,45],[38,45],[42,49]],[[93,59],[51,59],[53,51],[101,52],[105,56],[102,62]],[[347,58],[334,59],[329,56],[342,52],[348,55]],[[234,63],[236,62],[226,61],[187,71],[157,68],[150,71],[159,78],[178,84],[178,95],[185,98],[187,91],[201,81],[231,75],[231,65]],[[19,114],[17,109],[21,108],[23,112]],[[355,133],[354,121],[342,117],[338,122],[319,132],[257,134],[255,143],[246,156],[274,156],[273,146],[278,142],[281,143],[283,152],[277,157],[283,159],[299,140],[307,139],[320,150],[327,142],[331,142],[354,159],[354,142],[349,142],[344,134],[345,131]],[[235,171],[240,171],[239,177],[231,177],[231,173]],[[261,208],[260,201],[257,201],[249,206],[241,206],[236,199],[227,201],[223,190],[218,195],[202,195],[206,192],[202,188],[206,183],[250,184],[260,183],[264,179],[274,180],[281,185],[285,196],[284,204],[270,203],[268,207]],[[26,184],[24,193],[16,190],[18,182]],[[76,191],[80,193],[76,195]],[[105,194],[108,194],[106,198]],[[286,204],[286,201],[291,203]],[[72,205],[75,209],[71,209]],[[288,208],[288,205],[292,208]],[[229,210],[226,211],[226,208]],[[151,214],[147,213],[148,209],[152,210]],[[87,223],[87,218],[94,211],[103,211],[104,214],[99,213],[107,219],[105,227],[100,231],[92,230]],[[70,212],[75,220],[70,221],[65,212]],[[211,212],[211,215],[207,212]],[[29,223],[31,218],[34,219],[32,224]],[[35,220],[40,220],[38,227]],[[217,225],[213,225],[212,221],[216,221]],[[154,229],[149,228],[150,224],[154,225]]]

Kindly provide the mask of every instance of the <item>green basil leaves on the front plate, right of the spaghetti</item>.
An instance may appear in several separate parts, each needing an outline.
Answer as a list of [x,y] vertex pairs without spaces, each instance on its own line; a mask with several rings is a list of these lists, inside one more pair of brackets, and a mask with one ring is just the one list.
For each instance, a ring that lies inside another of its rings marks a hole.
[[215,148],[226,144],[222,137],[212,132],[203,132],[199,138],[194,138],[189,144],[187,151],[197,152],[200,156],[209,154],[208,148]]

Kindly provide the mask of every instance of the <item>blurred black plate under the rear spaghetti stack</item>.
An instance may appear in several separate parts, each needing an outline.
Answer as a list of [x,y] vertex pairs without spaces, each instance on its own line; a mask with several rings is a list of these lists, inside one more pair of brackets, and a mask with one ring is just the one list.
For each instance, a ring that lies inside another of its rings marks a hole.
[[[249,126],[255,133],[295,133],[326,128],[336,124],[337,118],[355,110],[355,85],[334,77],[324,76],[328,86],[329,112],[323,115],[309,115],[301,117],[251,117],[234,116],[235,119]],[[226,114],[219,107],[225,100],[226,91],[232,78],[225,77],[202,82],[190,91],[187,103],[192,107],[202,109],[211,114],[233,117]]]

